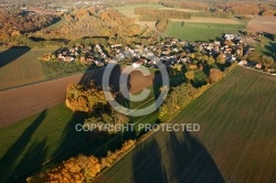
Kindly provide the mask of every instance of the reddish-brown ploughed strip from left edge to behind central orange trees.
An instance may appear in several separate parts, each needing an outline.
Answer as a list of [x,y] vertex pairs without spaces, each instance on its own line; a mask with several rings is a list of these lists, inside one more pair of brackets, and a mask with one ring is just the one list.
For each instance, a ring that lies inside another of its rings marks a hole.
[[[79,74],[71,77],[43,82],[30,86],[4,90],[0,93],[0,128],[17,122],[46,108],[64,103],[66,86],[73,83],[87,83],[91,79],[102,80],[103,71]],[[110,84],[118,88],[120,68],[110,76]],[[152,85],[152,76],[144,77],[139,72],[130,75],[130,92],[137,93]]]

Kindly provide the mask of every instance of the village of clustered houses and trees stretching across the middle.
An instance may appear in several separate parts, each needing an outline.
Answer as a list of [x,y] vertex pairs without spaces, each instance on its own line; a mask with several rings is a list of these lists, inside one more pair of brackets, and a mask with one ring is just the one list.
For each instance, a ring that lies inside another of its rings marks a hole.
[[[103,67],[108,63],[132,65],[135,68],[146,66],[156,68],[158,62],[167,67],[185,65],[197,69],[212,63],[238,65],[275,73],[275,67],[263,63],[256,52],[246,44],[246,37],[235,34],[223,34],[220,41],[189,43],[174,37],[161,39],[157,44],[136,44],[134,47],[124,44],[82,45],[61,47],[54,53],[47,53],[40,61],[55,61],[96,65]],[[253,58],[252,58],[253,57]],[[253,61],[254,60],[254,61]]]

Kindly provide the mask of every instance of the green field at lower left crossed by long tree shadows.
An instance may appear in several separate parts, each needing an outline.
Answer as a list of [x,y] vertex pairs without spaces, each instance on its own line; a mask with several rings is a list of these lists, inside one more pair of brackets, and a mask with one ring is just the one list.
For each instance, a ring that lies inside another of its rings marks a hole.
[[0,129],[0,182],[12,182],[84,138],[74,130],[83,122],[65,105],[59,105]]

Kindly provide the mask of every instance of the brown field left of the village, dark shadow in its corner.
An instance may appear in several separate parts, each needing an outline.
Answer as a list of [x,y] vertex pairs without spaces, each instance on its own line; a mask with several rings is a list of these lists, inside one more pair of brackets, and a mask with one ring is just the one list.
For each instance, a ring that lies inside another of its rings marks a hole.
[[0,50],[0,89],[45,79],[36,57],[53,50]]

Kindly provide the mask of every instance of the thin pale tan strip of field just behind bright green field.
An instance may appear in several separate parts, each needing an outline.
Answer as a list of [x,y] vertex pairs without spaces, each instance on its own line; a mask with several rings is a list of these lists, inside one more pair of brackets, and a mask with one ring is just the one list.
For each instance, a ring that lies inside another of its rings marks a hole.
[[184,21],[193,23],[242,24],[242,22],[235,19],[200,18],[200,17],[192,17],[191,19],[171,19],[171,21],[173,22]]

